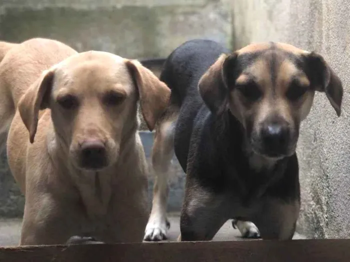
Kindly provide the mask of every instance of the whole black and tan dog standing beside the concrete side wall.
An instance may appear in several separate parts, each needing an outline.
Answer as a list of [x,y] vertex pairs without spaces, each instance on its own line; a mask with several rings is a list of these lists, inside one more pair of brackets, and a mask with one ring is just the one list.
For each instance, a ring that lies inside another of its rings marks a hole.
[[192,40],[170,54],[160,79],[171,98],[156,128],[145,240],[166,237],[173,151],[186,173],[182,241],[211,240],[231,218],[243,236],[291,239],[300,207],[295,147],[315,91],[340,115],[341,81],[322,56],[272,42],[229,54]]

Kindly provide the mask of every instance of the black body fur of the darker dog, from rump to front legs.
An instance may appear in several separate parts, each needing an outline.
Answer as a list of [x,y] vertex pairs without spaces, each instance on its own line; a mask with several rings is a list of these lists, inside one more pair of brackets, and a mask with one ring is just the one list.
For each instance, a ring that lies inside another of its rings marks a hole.
[[[271,199],[286,204],[300,201],[296,155],[279,160],[270,171],[255,171],[248,162],[249,152],[241,124],[228,109],[216,114],[204,104],[198,92],[198,81],[222,53],[229,53],[229,50],[210,40],[185,42],[169,55],[160,75],[160,80],[171,89],[170,103],[180,107],[174,151],[187,174],[180,222],[182,241],[209,240],[217,232],[214,228],[233,217],[264,227],[265,224],[259,224],[258,217],[262,213],[258,205],[269,203]],[[233,82],[242,68],[257,56],[258,53],[240,56],[234,68],[227,71],[227,81]],[[222,201],[215,210],[209,208],[209,202],[203,203],[200,210],[188,210],[195,194],[206,194]],[[211,217],[205,224],[199,216]],[[203,224],[196,225],[199,220]],[[212,224],[214,220],[217,225]],[[213,229],[199,232],[198,227]]]

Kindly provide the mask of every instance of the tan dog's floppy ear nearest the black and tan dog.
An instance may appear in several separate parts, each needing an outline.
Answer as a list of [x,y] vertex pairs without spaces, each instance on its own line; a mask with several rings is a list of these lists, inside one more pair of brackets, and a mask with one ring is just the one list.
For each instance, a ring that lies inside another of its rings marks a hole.
[[168,105],[170,89],[137,60],[126,60],[125,63],[138,89],[143,118],[152,131]]

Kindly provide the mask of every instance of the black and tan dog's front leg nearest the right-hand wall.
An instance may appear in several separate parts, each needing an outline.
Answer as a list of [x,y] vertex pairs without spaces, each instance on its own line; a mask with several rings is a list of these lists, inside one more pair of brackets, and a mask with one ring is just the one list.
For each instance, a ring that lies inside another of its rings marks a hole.
[[276,199],[267,200],[254,219],[261,238],[264,240],[292,239],[299,210],[298,200],[289,203]]

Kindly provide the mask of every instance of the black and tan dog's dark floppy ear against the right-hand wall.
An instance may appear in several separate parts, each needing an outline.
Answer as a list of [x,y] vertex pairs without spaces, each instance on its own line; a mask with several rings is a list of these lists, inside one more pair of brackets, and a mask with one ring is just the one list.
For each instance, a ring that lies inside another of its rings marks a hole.
[[341,80],[321,55],[311,52],[307,55],[307,59],[312,86],[316,91],[325,92],[337,116],[340,116],[343,92]]

